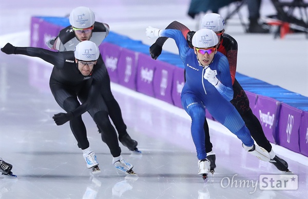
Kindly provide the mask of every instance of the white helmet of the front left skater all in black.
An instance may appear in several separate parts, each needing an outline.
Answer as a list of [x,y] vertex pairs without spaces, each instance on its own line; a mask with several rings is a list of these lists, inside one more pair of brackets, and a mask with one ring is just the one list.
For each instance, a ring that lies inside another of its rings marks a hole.
[[100,50],[95,43],[83,41],[75,47],[74,55],[81,61],[95,61],[100,56]]

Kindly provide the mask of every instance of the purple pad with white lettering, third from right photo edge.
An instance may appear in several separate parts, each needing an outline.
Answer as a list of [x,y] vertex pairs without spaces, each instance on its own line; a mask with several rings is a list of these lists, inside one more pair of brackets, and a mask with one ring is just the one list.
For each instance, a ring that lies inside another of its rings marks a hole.
[[256,106],[253,109],[253,113],[260,121],[267,140],[271,143],[277,143],[276,127],[279,119],[279,108],[280,102],[276,99],[258,95]]

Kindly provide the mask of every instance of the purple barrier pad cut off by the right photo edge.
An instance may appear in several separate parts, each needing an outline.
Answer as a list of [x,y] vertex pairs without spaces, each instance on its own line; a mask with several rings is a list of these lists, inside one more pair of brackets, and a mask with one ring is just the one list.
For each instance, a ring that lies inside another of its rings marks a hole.
[[299,127],[300,153],[308,156],[308,112],[303,111]]

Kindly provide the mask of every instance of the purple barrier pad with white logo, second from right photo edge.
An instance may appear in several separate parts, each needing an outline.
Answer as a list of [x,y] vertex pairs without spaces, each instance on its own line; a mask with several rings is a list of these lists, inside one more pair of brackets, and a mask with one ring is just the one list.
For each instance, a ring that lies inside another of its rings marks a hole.
[[281,103],[278,134],[279,145],[299,153],[299,125],[302,111]]

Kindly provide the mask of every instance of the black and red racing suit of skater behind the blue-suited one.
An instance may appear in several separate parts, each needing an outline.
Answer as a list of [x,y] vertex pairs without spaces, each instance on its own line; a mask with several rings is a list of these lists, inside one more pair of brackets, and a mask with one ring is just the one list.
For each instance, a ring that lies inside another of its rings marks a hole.
[[[189,47],[193,48],[191,44],[192,36],[195,34],[195,31],[190,31],[185,25],[174,21],[169,24],[166,29],[177,29],[182,31],[183,35],[186,36],[187,43]],[[156,42],[150,47],[149,52],[153,59],[156,59],[162,52],[162,46],[166,42],[167,37],[159,37]],[[272,145],[268,142],[262,126],[258,120],[258,118],[253,114],[252,109],[249,107],[248,97],[238,83],[235,78],[236,66],[237,66],[237,51],[238,45],[236,40],[228,35],[223,34],[221,36],[220,45],[218,47],[218,51],[223,53],[227,58],[230,65],[230,75],[233,83],[234,97],[232,101],[230,101],[233,106],[235,106],[236,110],[240,113],[243,121],[245,122],[246,127],[250,131],[252,137],[256,141],[256,143],[263,147],[266,151],[270,152],[272,150]],[[185,73],[185,71],[184,71]],[[185,78],[185,75],[184,75]],[[213,145],[210,142],[209,129],[208,124],[205,119],[204,121],[204,132],[205,132],[205,150],[206,152],[210,152],[213,148]]]

